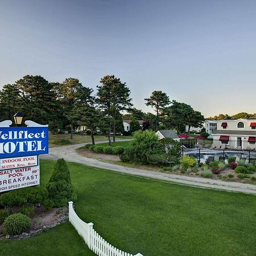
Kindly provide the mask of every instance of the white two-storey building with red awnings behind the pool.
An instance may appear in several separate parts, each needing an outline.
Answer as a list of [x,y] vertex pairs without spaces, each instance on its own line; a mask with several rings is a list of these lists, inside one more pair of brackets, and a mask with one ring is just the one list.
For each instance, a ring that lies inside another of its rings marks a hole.
[[256,119],[222,119],[213,133],[213,147],[256,150]]

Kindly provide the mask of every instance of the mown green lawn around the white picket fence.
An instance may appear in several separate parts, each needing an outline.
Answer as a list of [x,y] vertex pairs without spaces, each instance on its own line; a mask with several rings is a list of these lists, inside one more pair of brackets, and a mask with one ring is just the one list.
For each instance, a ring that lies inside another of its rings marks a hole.
[[[41,184],[53,161],[41,160]],[[256,197],[144,179],[69,163],[76,212],[115,247],[144,256],[255,255]],[[72,249],[70,249],[72,247]],[[73,251],[73,253],[72,253]],[[0,241],[0,255],[93,255],[65,223]]]

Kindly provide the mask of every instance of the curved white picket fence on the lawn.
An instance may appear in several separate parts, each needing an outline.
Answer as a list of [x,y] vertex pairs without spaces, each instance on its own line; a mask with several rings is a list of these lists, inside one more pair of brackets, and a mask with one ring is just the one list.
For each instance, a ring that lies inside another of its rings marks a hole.
[[86,223],[77,216],[75,210],[73,209],[73,202],[68,202],[69,208],[69,221],[76,229],[77,233],[80,234],[86,245],[92,250],[95,254],[99,256],[143,256],[138,253],[136,255],[125,253],[114,246],[110,245],[105,241],[94,229],[93,223]]

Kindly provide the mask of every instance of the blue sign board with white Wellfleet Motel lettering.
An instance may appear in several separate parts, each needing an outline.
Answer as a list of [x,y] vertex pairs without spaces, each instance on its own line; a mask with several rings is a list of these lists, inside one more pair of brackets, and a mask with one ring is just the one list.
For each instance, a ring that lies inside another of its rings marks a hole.
[[48,127],[0,127],[0,158],[48,154]]

